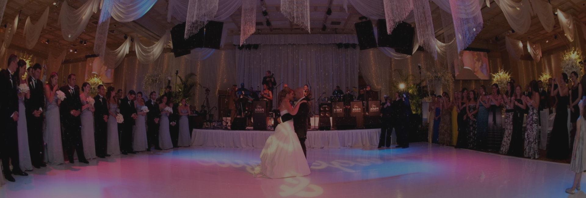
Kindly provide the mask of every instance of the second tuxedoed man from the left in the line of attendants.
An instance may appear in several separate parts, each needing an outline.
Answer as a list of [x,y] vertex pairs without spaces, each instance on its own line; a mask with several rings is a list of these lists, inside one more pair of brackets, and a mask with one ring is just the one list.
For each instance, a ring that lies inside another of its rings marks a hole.
[[26,79],[30,89],[30,98],[25,100],[26,128],[29,136],[30,161],[35,168],[47,166],[43,162],[45,151],[43,146],[43,109],[45,109],[45,93],[43,82],[40,81],[40,64],[29,67],[29,78]]

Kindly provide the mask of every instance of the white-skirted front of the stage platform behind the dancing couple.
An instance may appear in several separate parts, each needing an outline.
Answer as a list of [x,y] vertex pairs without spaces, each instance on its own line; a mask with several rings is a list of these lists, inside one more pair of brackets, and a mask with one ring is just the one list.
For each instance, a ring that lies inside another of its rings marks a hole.
[[[193,129],[192,144],[209,147],[263,148],[274,131]],[[367,147],[379,144],[380,128],[307,131],[308,148]]]

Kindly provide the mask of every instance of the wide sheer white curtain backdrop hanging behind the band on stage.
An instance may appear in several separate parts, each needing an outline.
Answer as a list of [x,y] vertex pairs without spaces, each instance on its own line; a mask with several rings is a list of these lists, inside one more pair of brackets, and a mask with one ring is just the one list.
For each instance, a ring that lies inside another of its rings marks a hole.
[[[274,92],[281,91],[282,83],[291,88],[308,84],[318,99],[324,92],[324,97],[331,95],[336,85],[358,86],[359,50],[335,44],[263,44],[258,50],[237,50],[236,64],[237,79],[246,88],[262,88],[267,70],[277,79]],[[276,107],[277,100],[273,101]]]

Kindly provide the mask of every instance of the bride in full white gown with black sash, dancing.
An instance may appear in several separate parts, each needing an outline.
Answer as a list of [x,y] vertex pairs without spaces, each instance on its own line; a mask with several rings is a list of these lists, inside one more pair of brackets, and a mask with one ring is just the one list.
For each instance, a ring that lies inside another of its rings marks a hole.
[[260,153],[261,163],[254,168],[253,172],[257,178],[261,176],[272,179],[289,178],[311,173],[299,138],[295,134],[292,116],[285,116],[285,114],[295,115],[299,109],[299,104],[295,108],[291,106],[290,101],[293,96],[293,90],[290,88],[279,92],[278,102],[283,123],[279,124],[275,128],[275,133],[268,137]]

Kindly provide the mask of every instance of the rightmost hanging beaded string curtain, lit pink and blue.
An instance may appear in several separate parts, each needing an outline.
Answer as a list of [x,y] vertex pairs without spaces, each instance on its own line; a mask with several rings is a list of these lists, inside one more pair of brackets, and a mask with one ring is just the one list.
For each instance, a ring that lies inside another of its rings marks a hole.
[[449,0],[449,6],[454,20],[459,53],[468,47],[482,30],[482,13],[478,1]]

